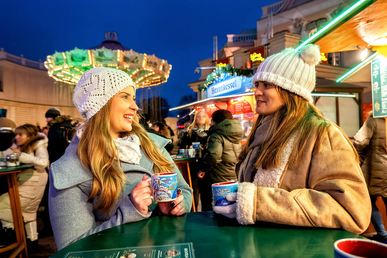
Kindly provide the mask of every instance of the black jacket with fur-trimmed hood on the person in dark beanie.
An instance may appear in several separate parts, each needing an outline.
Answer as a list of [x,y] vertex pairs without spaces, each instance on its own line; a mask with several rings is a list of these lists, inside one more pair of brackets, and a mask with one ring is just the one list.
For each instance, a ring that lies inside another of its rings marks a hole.
[[65,150],[75,132],[75,124],[68,115],[58,115],[48,122],[48,155],[50,164],[65,154]]

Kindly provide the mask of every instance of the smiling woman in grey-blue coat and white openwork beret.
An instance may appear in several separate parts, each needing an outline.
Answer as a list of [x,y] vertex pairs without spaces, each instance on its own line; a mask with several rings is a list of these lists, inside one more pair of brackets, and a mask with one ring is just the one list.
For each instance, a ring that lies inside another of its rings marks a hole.
[[[65,154],[50,168],[49,210],[58,249],[101,230],[149,218],[182,215],[191,209],[192,189],[164,146],[133,117],[135,84],[123,71],[96,67],[82,75],[74,104],[86,122]],[[156,203],[155,173],[177,173],[178,198]]]

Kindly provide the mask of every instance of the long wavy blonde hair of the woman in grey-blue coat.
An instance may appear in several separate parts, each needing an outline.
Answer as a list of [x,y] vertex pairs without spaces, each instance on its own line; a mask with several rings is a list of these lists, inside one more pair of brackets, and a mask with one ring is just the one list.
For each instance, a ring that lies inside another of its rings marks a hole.
[[[97,196],[96,209],[104,212],[105,215],[108,215],[127,182],[110,134],[111,101],[112,99],[77,129],[83,130],[78,144],[78,157],[82,164],[91,170],[94,179],[89,199]],[[130,134],[139,137],[142,150],[154,162],[155,173],[171,172],[173,165],[140,124],[133,121],[132,131],[121,132],[120,137]]]

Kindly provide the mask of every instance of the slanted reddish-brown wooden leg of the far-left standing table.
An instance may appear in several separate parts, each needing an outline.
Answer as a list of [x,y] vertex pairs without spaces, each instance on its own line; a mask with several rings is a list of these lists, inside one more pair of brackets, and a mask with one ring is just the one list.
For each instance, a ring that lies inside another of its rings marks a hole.
[[24,232],[24,223],[22,210],[19,199],[19,189],[17,186],[16,173],[7,175],[8,178],[8,189],[9,189],[9,200],[12,211],[12,218],[14,219],[14,227],[16,233],[16,240],[19,248],[22,248],[21,256],[28,258],[26,234]]

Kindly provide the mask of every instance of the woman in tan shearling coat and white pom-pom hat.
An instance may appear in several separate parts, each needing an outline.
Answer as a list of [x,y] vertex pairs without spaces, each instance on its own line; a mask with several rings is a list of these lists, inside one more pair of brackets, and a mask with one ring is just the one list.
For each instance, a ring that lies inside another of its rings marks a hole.
[[313,104],[316,45],[286,48],[253,76],[258,114],[238,157],[236,203],[214,207],[240,224],[256,221],[342,228],[370,223],[371,203],[359,157],[345,132]]

